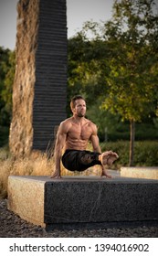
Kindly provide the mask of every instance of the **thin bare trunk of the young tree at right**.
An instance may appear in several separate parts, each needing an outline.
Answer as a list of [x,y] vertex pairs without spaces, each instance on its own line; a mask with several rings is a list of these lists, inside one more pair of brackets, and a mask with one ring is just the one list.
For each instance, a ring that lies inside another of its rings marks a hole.
[[133,166],[133,158],[134,158],[134,140],[135,140],[135,123],[133,120],[130,121],[130,159],[129,165]]

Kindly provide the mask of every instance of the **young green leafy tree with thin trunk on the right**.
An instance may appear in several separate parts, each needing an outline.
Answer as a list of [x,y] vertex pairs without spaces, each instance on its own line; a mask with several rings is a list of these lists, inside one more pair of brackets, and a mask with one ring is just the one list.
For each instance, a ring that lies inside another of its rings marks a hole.
[[153,0],[116,0],[113,18],[104,27],[111,59],[103,107],[131,123],[130,165],[134,123],[155,111],[157,101],[158,16],[153,6]]

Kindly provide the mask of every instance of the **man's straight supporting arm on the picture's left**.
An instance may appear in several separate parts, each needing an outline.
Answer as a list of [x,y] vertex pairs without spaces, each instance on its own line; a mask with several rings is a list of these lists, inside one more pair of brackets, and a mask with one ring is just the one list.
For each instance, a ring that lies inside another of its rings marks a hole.
[[67,131],[65,123],[60,123],[57,133],[57,139],[55,144],[54,159],[55,159],[55,170],[52,172],[51,178],[60,177],[60,160],[62,156],[62,149],[65,145],[67,137]]

